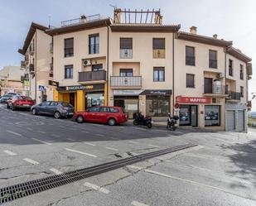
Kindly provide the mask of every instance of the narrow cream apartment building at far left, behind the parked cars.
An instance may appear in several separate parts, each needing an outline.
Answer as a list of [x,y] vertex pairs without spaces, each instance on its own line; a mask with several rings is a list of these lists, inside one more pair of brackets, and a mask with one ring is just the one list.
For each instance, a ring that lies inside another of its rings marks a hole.
[[22,49],[18,50],[24,55],[21,66],[26,71],[23,79],[26,94],[36,103],[52,100],[53,96],[52,38],[46,29],[48,27],[32,22]]

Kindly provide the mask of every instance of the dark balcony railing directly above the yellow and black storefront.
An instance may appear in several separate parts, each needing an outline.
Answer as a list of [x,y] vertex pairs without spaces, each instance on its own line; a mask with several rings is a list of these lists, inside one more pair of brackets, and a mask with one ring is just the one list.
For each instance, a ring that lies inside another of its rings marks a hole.
[[106,80],[106,71],[82,71],[79,72],[79,82]]

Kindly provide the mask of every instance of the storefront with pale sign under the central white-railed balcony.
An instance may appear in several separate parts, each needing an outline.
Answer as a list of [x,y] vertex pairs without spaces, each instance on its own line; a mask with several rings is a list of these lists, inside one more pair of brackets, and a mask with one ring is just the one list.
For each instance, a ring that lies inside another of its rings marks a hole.
[[142,90],[114,90],[114,106],[123,108],[128,118],[138,113],[138,95]]

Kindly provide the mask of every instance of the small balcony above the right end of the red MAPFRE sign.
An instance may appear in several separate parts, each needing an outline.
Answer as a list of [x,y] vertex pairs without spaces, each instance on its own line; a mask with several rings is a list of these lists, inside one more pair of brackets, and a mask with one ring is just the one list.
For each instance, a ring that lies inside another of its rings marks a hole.
[[204,96],[208,96],[208,97],[227,97],[228,91],[227,91],[227,87],[224,85],[215,85],[215,84],[211,84],[211,85],[203,85],[203,89],[204,89]]

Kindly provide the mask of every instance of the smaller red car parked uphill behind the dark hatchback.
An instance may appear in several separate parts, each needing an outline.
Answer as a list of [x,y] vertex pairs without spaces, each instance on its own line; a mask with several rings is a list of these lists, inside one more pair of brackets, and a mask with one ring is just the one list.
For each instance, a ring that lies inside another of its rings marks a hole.
[[27,96],[16,95],[12,98],[12,102],[9,103],[10,108],[14,111],[17,108],[30,109],[35,102]]

